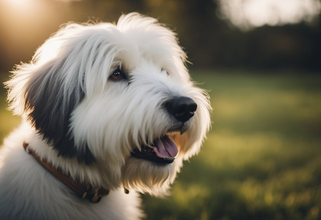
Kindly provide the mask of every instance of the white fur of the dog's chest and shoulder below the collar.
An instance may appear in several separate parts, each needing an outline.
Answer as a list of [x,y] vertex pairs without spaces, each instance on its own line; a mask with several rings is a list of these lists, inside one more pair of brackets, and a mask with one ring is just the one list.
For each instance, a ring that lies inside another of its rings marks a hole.
[[142,217],[141,198],[134,190],[129,194],[123,189],[111,190],[99,203],[77,197],[24,151],[23,141],[34,136],[34,130],[22,125],[5,139],[0,151],[0,219]]

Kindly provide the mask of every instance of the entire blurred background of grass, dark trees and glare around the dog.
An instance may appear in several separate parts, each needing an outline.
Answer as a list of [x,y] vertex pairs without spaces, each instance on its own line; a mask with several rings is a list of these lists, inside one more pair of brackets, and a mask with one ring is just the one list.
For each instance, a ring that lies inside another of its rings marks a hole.
[[[166,23],[213,127],[147,219],[321,219],[320,0],[0,0],[0,79],[59,26],[137,11]],[[0,138],[20,123],[0,89]]]

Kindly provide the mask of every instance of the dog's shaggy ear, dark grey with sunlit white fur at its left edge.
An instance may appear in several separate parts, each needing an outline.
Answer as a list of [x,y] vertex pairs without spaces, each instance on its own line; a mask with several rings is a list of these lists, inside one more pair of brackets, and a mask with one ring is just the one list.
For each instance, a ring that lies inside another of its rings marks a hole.
[[[6,82],[9,109],[25,116],[48,144],[61,156],[76,156],[86,164],[95,159],[88,146],[75,146],[69,130],[70,117],[84,97],[78,75],[65,73],[65,59],[54,58],[45,64],[22,64]],[[66,77],[69,84],[65,85]],[[70,82],[72,82],[70,84]]]

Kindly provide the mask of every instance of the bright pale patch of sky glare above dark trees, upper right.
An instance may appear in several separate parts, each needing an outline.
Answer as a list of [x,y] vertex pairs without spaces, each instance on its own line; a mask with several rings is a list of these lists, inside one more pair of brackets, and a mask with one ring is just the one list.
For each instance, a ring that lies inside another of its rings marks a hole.
[[318,0],[219,0],[218,17],[241,29],[265,24],[310,22],[321,12]]

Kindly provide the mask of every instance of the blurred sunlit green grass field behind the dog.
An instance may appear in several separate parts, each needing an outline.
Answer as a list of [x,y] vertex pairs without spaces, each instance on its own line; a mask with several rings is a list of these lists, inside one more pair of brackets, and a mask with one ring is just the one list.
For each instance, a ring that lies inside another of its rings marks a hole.
[[[321,77],[197,72],[213,128],[148,219],[321,219]],[[19,122],[0,94],[0,136]]]

